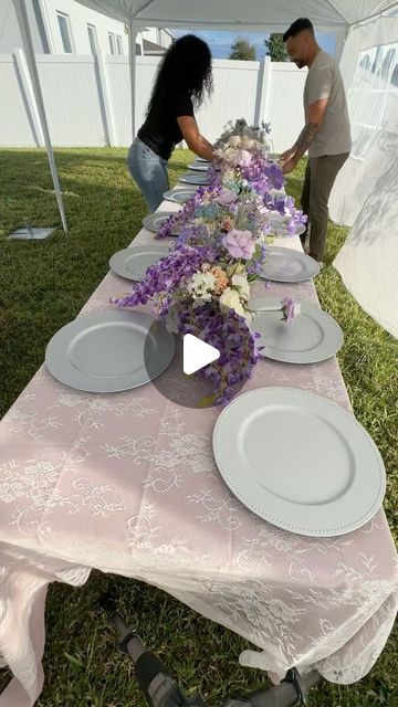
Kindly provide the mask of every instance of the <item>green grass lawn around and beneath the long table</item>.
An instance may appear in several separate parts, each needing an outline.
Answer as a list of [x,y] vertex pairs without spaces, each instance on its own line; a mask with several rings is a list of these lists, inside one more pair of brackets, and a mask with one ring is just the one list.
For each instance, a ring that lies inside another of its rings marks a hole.
[[[51,336],[73,319],[108,270],[111,255],[139,231],[146,207],[125,169],[124,149],[56,150],[70,226],[44,242],[6,235],[23,225],[59,225],[55,198],[42,150],[0,151],[0,418],[43,361]],[[191,159],[175,152],[170,181]],[[302,166],[289,180],[298,197]],[[331,263],[346,230],[331,224],[325,268],[316,278],[322,306],[341,324],[345,345],[338,359],[357,419],[384,456],[388,486],[385,508],[398,538],[397,342],[346,292]],[[210,705],[266,683],[237,664],[248,646],[167,594],[118,577],[93,572],[85,587],[52,584],[46,605],[45,685],[41,707],[144,705],[133,669],[114,650],[114,634],[97,608],[109,590],[121,612],[185,687],[199,688]],[[360,683],[325,685],[312,707],[397,707],[398,635],[392,634],[371,673]],[[3,672],[0,687],[9,678]]]

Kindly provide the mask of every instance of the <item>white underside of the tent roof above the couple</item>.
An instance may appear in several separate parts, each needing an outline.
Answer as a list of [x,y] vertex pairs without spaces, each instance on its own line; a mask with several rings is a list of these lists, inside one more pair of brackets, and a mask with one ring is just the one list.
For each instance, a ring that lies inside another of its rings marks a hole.
[[342,32],[396,4],[391,0],[77,0],[137,27],[284,31],[308,17],[318,31]]

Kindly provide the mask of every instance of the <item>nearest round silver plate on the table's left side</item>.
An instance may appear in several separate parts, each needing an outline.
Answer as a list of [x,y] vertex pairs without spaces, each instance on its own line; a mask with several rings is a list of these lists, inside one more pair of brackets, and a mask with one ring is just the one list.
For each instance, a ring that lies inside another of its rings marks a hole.
[[121,392],[160,376],[175,347],[172,335],[153,316],[109,308],[77,317],[56,331],[46,347],[45,363],[70,388]]

